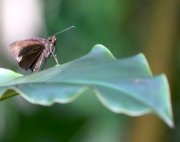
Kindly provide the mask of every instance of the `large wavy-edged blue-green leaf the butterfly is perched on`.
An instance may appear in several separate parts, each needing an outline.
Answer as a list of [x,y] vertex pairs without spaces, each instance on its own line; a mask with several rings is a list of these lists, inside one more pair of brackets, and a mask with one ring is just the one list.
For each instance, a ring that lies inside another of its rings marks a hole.
[[166,76],[153,77],[143,54],[117,60],[107,48],[96,45],[87,55],[44,71],[15,76],[7,70],[4,74],[9,79],[0,84],[1,99],[19,94],[31,103],[48,106],[69,103],[91,89],[115,113],[153,112],[173,126]]

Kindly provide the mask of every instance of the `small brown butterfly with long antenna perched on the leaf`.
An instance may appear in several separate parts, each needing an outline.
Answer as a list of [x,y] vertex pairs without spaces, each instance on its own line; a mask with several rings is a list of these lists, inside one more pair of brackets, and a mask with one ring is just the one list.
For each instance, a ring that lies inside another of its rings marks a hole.
[[9,45],[9,52],[17,60],[19,66],[25,70],[39,71],[41,65],[51,55],[54,57],[57,64],[58,60],[54,54],[56,46],[55,35],[67,31],[71,26],[63,31],[60,31],[48,39],[44,38],[31,38],[26,40],[15,41]]

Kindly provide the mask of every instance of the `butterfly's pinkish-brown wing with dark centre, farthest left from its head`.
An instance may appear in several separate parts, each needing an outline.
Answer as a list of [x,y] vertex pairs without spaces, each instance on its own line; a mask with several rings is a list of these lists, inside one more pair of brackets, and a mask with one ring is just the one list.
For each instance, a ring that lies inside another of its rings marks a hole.
[[16,41],[10,45],[9,51],[19,66],[28,70],[42,54],[45,48],[44,41],[45,39],[41,38]]

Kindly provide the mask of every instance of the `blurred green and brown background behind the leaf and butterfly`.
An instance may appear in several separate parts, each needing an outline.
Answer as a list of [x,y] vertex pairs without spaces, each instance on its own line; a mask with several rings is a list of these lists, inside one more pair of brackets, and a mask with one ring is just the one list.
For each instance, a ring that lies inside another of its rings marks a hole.
[[[87,92],[70,104],[32,105],[21,97],[0,102],[1,142],[179,142],[179,0],[0,0],[0,66],[22,71],[8,45],[33,36],[57,36],[61,64],[103,44],[117,58],[140,52],[154,75],[166,73],[176,127],[152,114],[132,118],[114,114]],[[53,66],[49,59],[45,68]],[[42,88],[43,89],[43,88]]]

